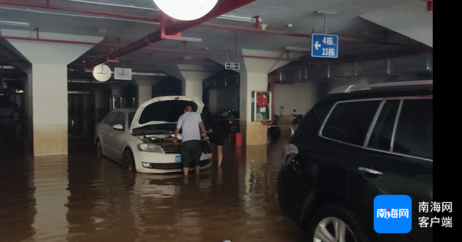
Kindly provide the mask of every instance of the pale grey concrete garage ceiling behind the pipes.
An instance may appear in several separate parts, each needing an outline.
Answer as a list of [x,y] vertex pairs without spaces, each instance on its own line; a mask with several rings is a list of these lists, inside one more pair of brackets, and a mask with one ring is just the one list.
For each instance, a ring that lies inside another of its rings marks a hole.
[[[45,0],[17,0],[12,2],[21,2],[29,4],[43,4]],[[260,16],[264,23],[268,25],[267,30],[284,31],[290,33],[323,33],[324,17],[316,11],[328,11],[335,13],[328,16],[327,31],[329,34],[339,35],[344,38],[357,38],[362,40],[383,41],[380,36],[384,31],[390,29],[360,18],[362,14],[382,9],[390,9],[400,4],[417,2],[419,0],[257,0],[252,4],[242,7],[228,13],[235,16],[253,17]],[[104,5],[112,4],[112,6]],[[124,6],[114,6],[120,4]],[[104,11],[109,13],[123,13],[133,16],[145,16],[156,18],[159,11],[152,0],[50,0],[51,6],[62,6],[72,9],[87,9],[92,11]],[[131,5],[131,6],[130,6]],[[389,16],[390,19],[393,16]],[[130,43],[145,35],[152,33],[160,28],[156,23],[146,21],[134,21],[117,17],[106,16],[102,18],[89,13],[75,13],[70,11],[56,11],[50,9],[36,9],[31,7],[11,6],[0,4],[0,21],[15,21],[29,23],[28,27],[4,26],[0,28],[18,29],[34,31],[39,28],[40,31],[49,33],[68,33],[74,35],[94,35],[108,37],[109,41],[120,38],[122,44]],[[240,26],[254,28],[254,23],[231,21],[225,19],[214,19],[208,23],[218,23],[229,26]],[[288,24],[293,27],[287,27]],[[362,32],[377,33],[377,35],[362,35]],[[399,31],[398,31],[399,32]],[[391,35],[402,37],[399,33],[390,31]],[[230,53],[235,54],[236,35],[237,45],[240,49],[251,50],[272,50],[281,53],[285,52],[287,46],[297,48],[310,48],[310,38],[290,37],[284,35],[268,35],[264,33],[250,33],[237,31],[223,31],[217,28],[194,27],[182,33],[183,37],[201,38],[201,43],[188,42],[187,50]],[[400,43],[407,44],[406,38],[401,38]],[[113,42],[114,43],[114,42]],[[341,41],[340,58],[350,57],[367,57],[377,55],[377,53],[399,53],[403,50],[414,50],[416,43],[412,40],[409,46],[394,45],[377,45],[370,43],[355,43]],[[177,40],[162,40],[152,47],[168,48],[175,50],[184,50],[185,45]],[[87,52],[86,55],[104,55],[107,48],[95,47]],[[305,53],[309,54],[309,53]],[[1,55],[0,55],[1,56]],[[185,60],[184,57],[190,57]],[[188,53],[171,53],[168,51],[156,50],[138,50],[131,53],[128,57],[168,60],[168,61],[190,61],[190,62],[210,62],[214,63],[207,55],[195,55]],[[1,57],[0,57],[1,59]],[[309,57],[305,57],[309,60]],[[83,59],[76,60],[76,63],[82,63]],[[112,66],[120,66],[120,63]],[[137,67],[144,71],[154,70],[156,68],[170,68],[172,63],[163,62],[139,62],[126,61],[127,67]],[[222,70],[222,67],[205,66],[205,70]],[[207,69],[208,68],[208,69]],[[210,69],[213,68],[213,69]]]

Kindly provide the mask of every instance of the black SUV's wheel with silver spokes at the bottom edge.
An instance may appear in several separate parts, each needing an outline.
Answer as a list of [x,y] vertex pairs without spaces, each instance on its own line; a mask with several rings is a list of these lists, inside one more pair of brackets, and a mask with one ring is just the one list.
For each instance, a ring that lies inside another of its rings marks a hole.
[[360,216],[343,204],[328,204],[318,209],[308,225],[308,241],[369,242]]

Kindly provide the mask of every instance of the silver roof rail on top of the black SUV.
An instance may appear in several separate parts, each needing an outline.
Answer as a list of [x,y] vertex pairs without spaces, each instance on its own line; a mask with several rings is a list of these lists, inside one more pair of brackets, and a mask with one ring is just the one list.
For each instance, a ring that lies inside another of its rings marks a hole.
[[375,89],[399,89],[403,87],[433,87],[433,80],[426,81],[409,81],[409,82],[385,82],[385,83],[375,83],[375,84],[359,84],[359,85],[350,85],[337,87],[333,89],[329,94],[338,94],[338,93],[351,93],[351,92],[360,92],[360,91],[369,91]]

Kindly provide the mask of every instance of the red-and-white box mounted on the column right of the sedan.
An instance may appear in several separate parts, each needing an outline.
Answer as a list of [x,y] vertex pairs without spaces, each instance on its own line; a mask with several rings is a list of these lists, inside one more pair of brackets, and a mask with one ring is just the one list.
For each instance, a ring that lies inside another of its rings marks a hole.
[[272,121],[271,95],[271,92],[252,91],[252,122]]

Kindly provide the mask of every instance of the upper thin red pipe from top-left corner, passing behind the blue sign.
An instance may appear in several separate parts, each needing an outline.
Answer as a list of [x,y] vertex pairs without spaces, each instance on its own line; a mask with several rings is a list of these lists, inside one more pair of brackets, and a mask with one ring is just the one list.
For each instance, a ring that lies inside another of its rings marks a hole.
[[[0,1],[0,4],[14,5],[14,6],[28,6],[28,7],[39,8],[39,9],[72,11],[72,12],[77,12],[77,13],[91,13],[95,15],[115,16],[119,18],[131,18],[131,19],[161,23],[159,18],[147,18],[143,16],[134,16],[134,15],[127,15],[127,14],[122,14],[122,13],[107,13],[107,12],[90,11],[90,10],[83,10],[83,9],[70,9],[70,8],[58,7],[58,6],[44,6],[44,5],[39,5],[39,4],[16,3],[16,2],[11,2],[11,1]],[[258,26],[258,22],[256,23]],[[244,27],[237,27],[237,26],[225,26],[225,25],[213,24],[213,23],[200,23],[200,24],[196,24],[196,26],[203,26],[203,27],[208,27],[208,28],[220,28],[220,29],[227,29],[227,30],[233,30],[233,31],[247,31],[247,32],[254,32],[254,33],[267,33],[267,34],[274,34],[274,35],[286,35],[286,36],[294,36],[294,37],[302,37],[302,38],[311,38],[311,35],[307,35],[307,34],[286,33],[286,32],[281,32],[281,31],[267,31],[267,30],[262,30],[262,28],[258,28],[258,27],[257,28],[244,28]],[[382,44],[382,45],[402,45],[398,43],[384,43],[384,42],[369,41],[369,40],[359,40],[359,39],[354,39],[354,38],[342,38],[342,37],[338,38],[338,40],[361,42],[361,43],[377,43],[377,44]]]

